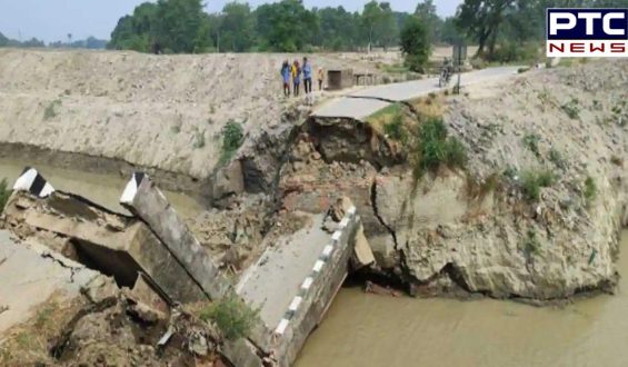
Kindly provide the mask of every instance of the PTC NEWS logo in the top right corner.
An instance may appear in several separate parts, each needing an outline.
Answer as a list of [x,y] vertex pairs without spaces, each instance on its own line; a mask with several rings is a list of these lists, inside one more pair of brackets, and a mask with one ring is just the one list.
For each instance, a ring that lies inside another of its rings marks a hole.
[[628,57],[628,9],[547,9],[548,57]]

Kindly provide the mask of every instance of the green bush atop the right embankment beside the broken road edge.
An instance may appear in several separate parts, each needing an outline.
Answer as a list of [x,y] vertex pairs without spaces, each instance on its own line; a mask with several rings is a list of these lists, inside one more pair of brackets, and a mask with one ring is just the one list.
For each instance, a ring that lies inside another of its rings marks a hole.
[[415,177],[427,171],[436,172],[440,166],[463,169],[468,157],[465,146],[455,137],[448,137],[441,118],[429,118],[419,126],[415,149]]

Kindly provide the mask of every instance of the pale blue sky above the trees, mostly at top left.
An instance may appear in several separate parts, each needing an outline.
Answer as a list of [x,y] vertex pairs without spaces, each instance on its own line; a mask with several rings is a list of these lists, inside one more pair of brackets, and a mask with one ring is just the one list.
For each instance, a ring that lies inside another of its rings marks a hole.
[[[93,36],[109,39],[118,19],[131,13],[146,0],[0,0],[0,32],[13,39],[32,37],[52,42]],[[206,0],[208,11],[217,11],[230,0]],[[240,0],[241,1],[241,0]],[[419,0],[388,0],[393,10],[413,11]],[[250,0],[252,7],[268,0]],[[361,10],[366,0],[303,0],[306,7],[338,7]],[[452,16],[462,0],[435,0],[438,13]]]

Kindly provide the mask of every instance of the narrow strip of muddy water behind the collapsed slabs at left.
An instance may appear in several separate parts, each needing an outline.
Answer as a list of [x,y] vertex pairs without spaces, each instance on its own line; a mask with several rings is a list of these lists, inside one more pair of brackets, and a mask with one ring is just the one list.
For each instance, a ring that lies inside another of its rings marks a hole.
[[[24,167],[28,166],[37,168],[57,190],[80,195],[107,209],[129,214],[120,206],[119,200],[130,177],[83,172],[0,158],[0,180],[7,179],[9,187],[12,187]],[[178,192],[162,191],[172,207],[183,217],[192,217],[202,211],[201,205],[193,198]]]

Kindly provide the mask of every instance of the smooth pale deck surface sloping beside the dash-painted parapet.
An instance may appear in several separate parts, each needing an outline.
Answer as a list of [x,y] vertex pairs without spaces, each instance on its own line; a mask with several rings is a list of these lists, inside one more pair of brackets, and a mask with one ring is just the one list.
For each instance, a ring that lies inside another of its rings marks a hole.
[[237,286],[238,294],[249,305],[260,308],[262,320],[271,329],[277,327],[330,242],[330,235],[321,229],[323,217],[312,216],[310,226],[268,248]]

